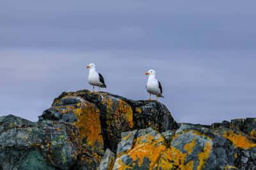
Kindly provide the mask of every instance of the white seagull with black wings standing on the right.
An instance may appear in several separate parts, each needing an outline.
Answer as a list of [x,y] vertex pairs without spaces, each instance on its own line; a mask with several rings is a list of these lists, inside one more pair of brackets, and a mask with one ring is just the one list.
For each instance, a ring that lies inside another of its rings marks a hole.
[[147,82],[146,88],[149,93],[149,100],[151,100],[152,94],[156,95],[156,101],[157,101],[157,97],[164,97],[162,94],[163,93],[162,85],[156,79],[156,71],[148,70],[148,72],[146,72],[145,75],[148,75],[148,82]]

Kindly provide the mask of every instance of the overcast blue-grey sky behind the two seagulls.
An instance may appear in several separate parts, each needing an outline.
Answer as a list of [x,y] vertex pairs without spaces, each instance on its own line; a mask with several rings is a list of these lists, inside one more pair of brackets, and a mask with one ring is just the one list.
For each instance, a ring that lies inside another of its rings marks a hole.
[[147,99],[157,71],[178,122],[256,117],[256,1],[1,1],[0,116],[37,121],[62,91]]

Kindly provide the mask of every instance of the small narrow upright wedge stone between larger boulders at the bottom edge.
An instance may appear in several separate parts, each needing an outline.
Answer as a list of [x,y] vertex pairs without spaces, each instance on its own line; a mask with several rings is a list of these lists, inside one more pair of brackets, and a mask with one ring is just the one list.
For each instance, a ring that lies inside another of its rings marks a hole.
[[100,170],[111,170],[115,163],[115,154],[107,149],[100,162]]

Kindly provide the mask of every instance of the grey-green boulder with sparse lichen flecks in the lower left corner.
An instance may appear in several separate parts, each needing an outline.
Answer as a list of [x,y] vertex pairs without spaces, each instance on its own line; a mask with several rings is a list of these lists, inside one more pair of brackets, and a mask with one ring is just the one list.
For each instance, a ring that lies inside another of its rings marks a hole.
[[81,146],[74,125],[15,116],[0,118],[0,169],[70,169]]

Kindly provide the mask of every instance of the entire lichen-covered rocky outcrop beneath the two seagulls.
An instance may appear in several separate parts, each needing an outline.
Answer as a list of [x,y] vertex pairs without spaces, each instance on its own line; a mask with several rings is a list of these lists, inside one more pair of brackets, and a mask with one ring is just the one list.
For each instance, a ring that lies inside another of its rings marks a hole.
[[256,119],[176,123],[155,101],[62,93],[38,122],[0,117],[0,169],[256,169]]

